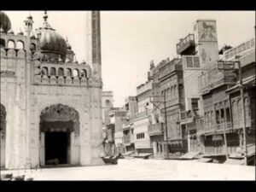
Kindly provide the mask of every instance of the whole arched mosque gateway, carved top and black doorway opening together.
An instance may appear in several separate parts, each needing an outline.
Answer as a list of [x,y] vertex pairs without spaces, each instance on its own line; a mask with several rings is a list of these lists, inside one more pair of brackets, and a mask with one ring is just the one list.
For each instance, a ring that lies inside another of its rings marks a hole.
[[72,164],[72,134],[79,137],[78,111],[62,104],[45,108],[40,115],[40,165]]

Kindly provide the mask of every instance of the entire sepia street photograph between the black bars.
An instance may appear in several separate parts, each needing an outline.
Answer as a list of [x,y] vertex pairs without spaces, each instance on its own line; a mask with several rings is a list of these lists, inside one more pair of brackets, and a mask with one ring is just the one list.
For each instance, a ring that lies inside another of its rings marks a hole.
[[0,11],[1,182],[255,180],[255,11]]

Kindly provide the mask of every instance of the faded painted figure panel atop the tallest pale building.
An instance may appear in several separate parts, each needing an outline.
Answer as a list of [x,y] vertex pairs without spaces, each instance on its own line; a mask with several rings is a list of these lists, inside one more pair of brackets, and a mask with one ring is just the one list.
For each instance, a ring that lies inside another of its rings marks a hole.
[[216,23],[202,20],[198,24],[198,35],[200,41],[217,41]]

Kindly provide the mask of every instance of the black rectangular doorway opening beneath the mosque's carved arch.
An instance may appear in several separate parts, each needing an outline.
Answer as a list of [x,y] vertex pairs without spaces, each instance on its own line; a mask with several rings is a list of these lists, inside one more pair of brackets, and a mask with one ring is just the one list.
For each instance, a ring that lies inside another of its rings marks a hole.
[[[57,164],[67,164],[69,132],[45,132],[45,164],[58,160]],[[54,165],[57,165],[54,164]]]

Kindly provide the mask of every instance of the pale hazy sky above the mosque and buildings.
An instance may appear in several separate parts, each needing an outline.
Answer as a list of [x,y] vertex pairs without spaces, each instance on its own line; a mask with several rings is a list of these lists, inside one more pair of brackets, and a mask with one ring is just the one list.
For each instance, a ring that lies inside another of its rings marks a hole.
[[[15,33],[23,30],[28,11],[5,11]],[[31,11],[34,28],[43,25],[44,11]],[[68,38],[78,61],[86,61],[86,12],[48,11],[49,24]],[[102,11],[103,90],[113,90],[114,105],[135,96],[147,80],[149,61],[177,56],[176,44],[193,32],[197,19],[217,20],[218,47],[236,46],[255,36],[254,11]]]

